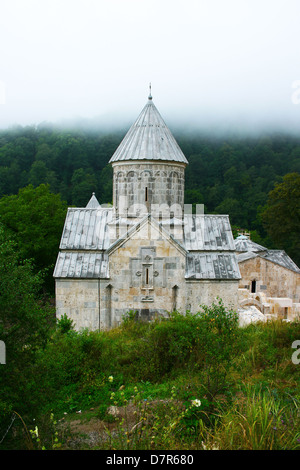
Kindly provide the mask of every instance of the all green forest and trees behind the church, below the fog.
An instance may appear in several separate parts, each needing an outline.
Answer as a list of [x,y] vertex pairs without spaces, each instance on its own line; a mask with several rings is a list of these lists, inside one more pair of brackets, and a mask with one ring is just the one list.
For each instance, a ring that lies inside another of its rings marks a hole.
[[[125,132],[51,125],[0,131],[1,222],[24,259],[49,270],[49,283],[67,206],[84,207],[93,192],[100,203],[112,202],[108,161]],[[185,202],[229,214],[234,234],[249,230],[300,264],[300,137],[174,135],[189,161]]]

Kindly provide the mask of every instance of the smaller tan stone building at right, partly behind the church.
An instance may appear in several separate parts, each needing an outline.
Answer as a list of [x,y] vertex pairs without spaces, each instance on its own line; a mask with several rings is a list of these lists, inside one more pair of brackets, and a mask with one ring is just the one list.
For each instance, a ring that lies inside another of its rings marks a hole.
[[246,235],[235,239],[241,273],[240,306],[294,319],[300,314],[300,269],[283,250],[268,250]]

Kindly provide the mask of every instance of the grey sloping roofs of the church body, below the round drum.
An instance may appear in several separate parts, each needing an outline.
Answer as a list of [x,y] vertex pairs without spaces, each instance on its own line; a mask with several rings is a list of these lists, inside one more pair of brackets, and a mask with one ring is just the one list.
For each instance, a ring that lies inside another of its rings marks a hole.
[[[140,221],[118,220],[115,223],[128,224],[126,235],[111,243],[109,225],[113,222],[113,208],[97,206],[96,198],[90,202],[92,207],[88,207],[88,204],[87,207],[68,209],[54,270],[55,278],[108,278],[108,257],[111,251],[124,243],[147,220],[157,226],[170,243],[175,244],[186,256],[186,279],[240,278],[228,216],[186,215],[184,240],[181,241],[170,235],[167,223],[158,222],[150,215]],[[183,223],[177,219],[176,222]]]

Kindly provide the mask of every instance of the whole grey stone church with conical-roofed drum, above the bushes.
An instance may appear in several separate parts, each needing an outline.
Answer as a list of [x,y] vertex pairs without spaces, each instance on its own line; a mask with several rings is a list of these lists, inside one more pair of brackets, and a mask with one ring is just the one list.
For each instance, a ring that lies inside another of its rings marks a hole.
[[68,209],[54,270],[57,317],[101,330],[130,310],[150,320],[197,312],[218,297],[237,308],[229,217],[184,204],[188,161],[151,93],[110,163],[113,206],[93,194],[86,207]]

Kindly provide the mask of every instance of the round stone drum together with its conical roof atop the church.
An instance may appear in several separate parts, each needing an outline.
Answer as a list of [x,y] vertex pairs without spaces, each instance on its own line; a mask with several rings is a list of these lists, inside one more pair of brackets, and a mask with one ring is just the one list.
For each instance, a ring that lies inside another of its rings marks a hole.
[[164,205],[181,217],[188,161],[151,95],[109,163],[114,172],[113,205],[117,215],[135,217]]

